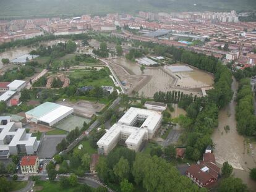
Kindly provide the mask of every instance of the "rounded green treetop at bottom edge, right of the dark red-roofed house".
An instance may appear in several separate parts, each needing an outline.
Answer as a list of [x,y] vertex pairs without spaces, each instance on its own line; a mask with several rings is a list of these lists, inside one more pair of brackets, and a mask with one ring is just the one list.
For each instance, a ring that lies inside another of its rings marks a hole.
[[242,183],[241,178],[224,178],[218,188],[218,192],[246,192],[247,186]]

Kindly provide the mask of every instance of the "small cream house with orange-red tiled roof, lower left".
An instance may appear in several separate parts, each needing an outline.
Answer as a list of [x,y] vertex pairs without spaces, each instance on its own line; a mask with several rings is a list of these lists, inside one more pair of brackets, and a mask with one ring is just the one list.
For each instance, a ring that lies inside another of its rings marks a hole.
[[38,156],[24,156],[20,161],[22,174],[37,173],[39,167]]

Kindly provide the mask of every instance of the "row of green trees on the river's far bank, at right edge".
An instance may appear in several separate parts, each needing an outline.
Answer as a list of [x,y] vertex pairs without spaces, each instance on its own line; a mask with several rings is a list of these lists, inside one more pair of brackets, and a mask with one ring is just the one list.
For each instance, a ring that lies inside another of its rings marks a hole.
[[254,114],[254,94],[248,78],[239,81],[236,100],[237,131],[242,135],[252,136],[256,131],[256,116]]

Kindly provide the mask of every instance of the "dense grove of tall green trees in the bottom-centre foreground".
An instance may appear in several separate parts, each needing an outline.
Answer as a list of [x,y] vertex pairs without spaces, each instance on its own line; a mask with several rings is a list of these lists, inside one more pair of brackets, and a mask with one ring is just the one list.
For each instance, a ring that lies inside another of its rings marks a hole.
[[143,186],[149,192],[207,191],[180,175],[163,158],[127,148],[117,148],[108,156],[100,157],[96,171],[103,182],[119,184],[122,192],[132,192],[135,186]]

